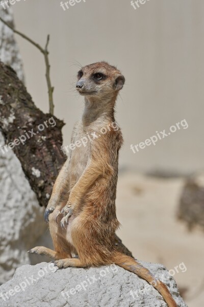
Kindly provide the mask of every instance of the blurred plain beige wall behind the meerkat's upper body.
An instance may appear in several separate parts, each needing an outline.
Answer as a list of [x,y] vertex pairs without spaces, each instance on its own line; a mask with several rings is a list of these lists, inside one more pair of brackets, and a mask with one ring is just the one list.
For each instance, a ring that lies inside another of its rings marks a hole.
[[[127,0],[86,0],[66,11],[59,0],[21,0],[13,10],[17,29],[42,45],[50,34],[55,115],[66,122],[64,144],[83,111],[83,98],[74,92],[73,63],[107,60],[126,77],[116,114],[125,140],[121,167],[182,173],[203,167],[203,0],[149,0],[137,10]],[[46,112],[42,55],[17,39],[28,90]],[[131,151],[130,144],[183,119],[188,129]]]

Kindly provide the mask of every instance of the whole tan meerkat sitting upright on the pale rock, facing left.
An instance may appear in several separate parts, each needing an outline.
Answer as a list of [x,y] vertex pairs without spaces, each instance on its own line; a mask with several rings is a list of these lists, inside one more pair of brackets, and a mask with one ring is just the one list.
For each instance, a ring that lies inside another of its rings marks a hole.
[[[107,62],[79,71],[76,88],[85,97],[85,109],[73,128],[71,143],[75,149],[59,173],[45,210],[55,250],[35,247],[29,252],[55,259],[58,268],[116,264],[148,281],[169,307],[176,307],[167,286],[135,259],[117,251],[114,244],[120,225],[115,199],[123,139],[113,123],[115,102],[124,81],[121,72]],[[104,127],[109,127],[107,133],[99,134]],[[91,134],[95,138],[80,146],[79,140]]]

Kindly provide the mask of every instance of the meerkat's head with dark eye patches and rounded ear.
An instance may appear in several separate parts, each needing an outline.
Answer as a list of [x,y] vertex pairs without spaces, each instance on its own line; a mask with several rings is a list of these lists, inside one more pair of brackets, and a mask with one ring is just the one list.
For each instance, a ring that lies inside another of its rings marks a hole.
[[124,76],[107,62],[97,62],[78,72],[77,91],[87,98],[107,99],[117,96],[124,84]]

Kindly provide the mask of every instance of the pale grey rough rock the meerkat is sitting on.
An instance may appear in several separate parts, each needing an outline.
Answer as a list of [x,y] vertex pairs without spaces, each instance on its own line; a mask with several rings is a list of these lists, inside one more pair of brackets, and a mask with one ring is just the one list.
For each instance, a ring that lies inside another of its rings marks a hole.
[[[187,307],[165,267],[141,264],[167,284],[178,307]],[[42,262],[16,270],[13,279],[0,287],[0,306],[166,307],[167,304],[145,280],[118,266],[57,269]]]

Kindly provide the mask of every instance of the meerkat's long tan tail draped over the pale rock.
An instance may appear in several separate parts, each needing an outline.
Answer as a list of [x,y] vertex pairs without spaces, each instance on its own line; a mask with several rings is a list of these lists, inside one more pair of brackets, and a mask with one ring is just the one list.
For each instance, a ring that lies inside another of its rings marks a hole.
[[166,284],[157,279],[153,274],[151,274],[149,270],[141,266],[139,262],[120,252],[116,252],[114,255],[114,263],[119,267],[127,271],[133,272],[148,281],[163,296],[168,307],[177,307],[177,304],[172,298],[172,295],[169,292]]

